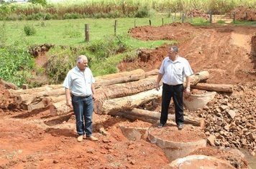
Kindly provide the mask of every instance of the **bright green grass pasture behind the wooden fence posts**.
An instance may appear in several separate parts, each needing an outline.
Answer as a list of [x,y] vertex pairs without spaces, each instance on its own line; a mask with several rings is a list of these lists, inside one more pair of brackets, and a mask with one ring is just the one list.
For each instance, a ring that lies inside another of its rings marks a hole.
[[[136,26],[149,25],[149,18],[132,19],[119,18],[117,20],[116,34],[127,34],[129,29]],[[6,44],[10,45],[22,40],[27,44],[57,44],[57,45],[81,45],[84,42],[85,24],[89,24],[90,41],[109,37],[114,34],[115,19],[70,19],[70,20],[50,20],[50,21],[5,21],[6,24]],[[165,24],[170,23],[170,18],[164,19]],[[162,25],[162,18],[152,18],[152,26]],[[0,21],[0,26],[3,21]],[[26,36],[24,26],[32,25],[36,29],[36,34]],[[149,42],[150,43],[150,42]],[[155,42],[154,42],[155,43]]]

